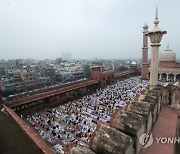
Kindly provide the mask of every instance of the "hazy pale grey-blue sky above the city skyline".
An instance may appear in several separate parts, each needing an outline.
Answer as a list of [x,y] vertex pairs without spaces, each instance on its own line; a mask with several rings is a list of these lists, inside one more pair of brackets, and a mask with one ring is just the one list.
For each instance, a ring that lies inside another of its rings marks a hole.
[[0,0],[0,59],[140,58],[156,6],[160,51],[169,42],[180,58],[180,0]]

